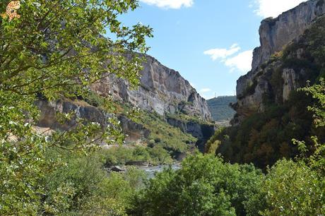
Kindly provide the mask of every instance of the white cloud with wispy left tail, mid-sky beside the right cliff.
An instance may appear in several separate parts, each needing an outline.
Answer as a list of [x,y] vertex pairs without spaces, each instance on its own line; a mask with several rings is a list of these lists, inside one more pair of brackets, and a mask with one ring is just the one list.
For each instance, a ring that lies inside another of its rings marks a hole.
[[252,69],[253,50],[238,53],[240,49],[238,44],[232,44],[230,49],[209,49],[203,54],[211,56],[213,61],[220,59],[221,63],[230,68],[230,72],[246,73]]

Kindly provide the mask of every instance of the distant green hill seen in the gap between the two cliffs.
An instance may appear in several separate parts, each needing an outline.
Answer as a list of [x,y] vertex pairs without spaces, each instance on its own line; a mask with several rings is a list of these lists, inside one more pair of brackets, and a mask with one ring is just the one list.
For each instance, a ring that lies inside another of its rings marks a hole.
[[215,97],[206,102],[215,121],[230,120],[235,115],[235,110],[230,107],[230,104],[237,102],[236,96]]

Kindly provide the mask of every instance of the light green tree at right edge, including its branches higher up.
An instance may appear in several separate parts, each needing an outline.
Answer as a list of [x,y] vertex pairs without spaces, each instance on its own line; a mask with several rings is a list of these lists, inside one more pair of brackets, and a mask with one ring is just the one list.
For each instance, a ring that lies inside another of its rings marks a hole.
[[[325,83],[302,88],[316,100],[308,109],[314,112],[315,126],[324,126]],[[300,155],[293,160],[279,160],[268,169],[261,191],[247,202],[249,215],[324,215],[325,145],[311,138],[311,154],[305,141],[293,140]],[[311,154],[311,155],[310,155]]]

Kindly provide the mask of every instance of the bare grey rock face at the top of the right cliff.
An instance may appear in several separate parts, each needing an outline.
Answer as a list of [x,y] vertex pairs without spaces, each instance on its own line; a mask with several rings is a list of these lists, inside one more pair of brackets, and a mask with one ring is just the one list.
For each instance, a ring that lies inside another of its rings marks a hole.
[[278,18],[263,20],[259,28],[261,47],[254,49],[252,70],[256,70],[275,52],[280,52],[288,42],[296,40],[315,18],[324,13],[325,1],[311,0],[282,13]]

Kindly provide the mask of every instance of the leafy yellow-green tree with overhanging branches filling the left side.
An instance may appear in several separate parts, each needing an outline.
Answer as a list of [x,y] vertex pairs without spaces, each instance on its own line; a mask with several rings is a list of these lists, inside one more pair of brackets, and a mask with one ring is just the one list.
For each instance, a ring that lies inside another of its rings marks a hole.
[[[1,13],[9,1],[1,1]],[[51,137],[36,133],[40,98],[87,97],[107,76],[138,83],[151,29],[128,28],[119,16],[133,0],[20,1],[20,18],[0,20],[0,215],[34,215],[42,205],[41,180],[60,164],[45,157],[57,147],[85,150],[99,140],[122,140],[117,121],[107,128],[78,119]],[[105,37],[104,37],[105,36]],[[105,109],[112,103],[107,101]],[[61,115],[64,121],[73,114]],[[60,118],[59,118],[60,119]]]

